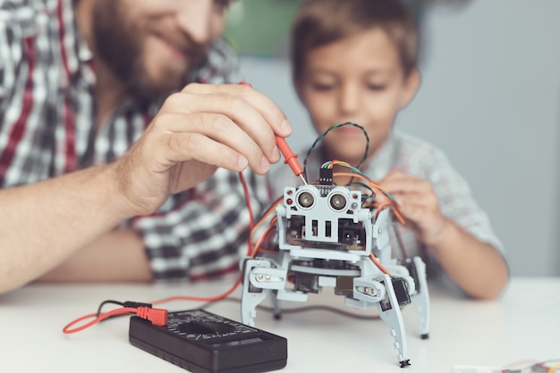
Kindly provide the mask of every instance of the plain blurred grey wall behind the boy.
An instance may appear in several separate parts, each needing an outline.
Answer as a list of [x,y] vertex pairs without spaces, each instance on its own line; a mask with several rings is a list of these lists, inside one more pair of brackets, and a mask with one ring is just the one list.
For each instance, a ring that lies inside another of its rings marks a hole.
[[[560,275],[560,1],[475,0],[426,14],[422,85],[396,126],[442,148],[505,243],[514,276]],[[242,57],[284,109],[294,149],[317,136],[282,59]]]

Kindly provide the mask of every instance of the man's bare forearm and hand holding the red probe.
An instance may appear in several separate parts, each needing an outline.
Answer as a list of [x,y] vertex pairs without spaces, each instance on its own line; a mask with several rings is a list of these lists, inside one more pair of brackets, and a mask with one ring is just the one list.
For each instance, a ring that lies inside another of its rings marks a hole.
[[265,174],[292,128],[251,87],[192,84],[171,95],[122,158],[0,191],[0,293],[54,269],[121,221],[156,211],[217,167]]

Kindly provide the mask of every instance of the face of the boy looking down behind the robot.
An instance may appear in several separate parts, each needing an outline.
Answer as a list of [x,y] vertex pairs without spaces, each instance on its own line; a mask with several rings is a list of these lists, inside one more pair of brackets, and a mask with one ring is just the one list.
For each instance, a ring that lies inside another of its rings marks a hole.
[[[369,153],[375,153],[391,133],[395,114],[408,104],[420,84],[418,71],[404,76],[393,42],[382,29],[346,37],[307,54],[298,94],[322,133],[351,121],[366,129]],[[336,128],[322,139],[329,160],[356,165],[365,151],[360,128]]]

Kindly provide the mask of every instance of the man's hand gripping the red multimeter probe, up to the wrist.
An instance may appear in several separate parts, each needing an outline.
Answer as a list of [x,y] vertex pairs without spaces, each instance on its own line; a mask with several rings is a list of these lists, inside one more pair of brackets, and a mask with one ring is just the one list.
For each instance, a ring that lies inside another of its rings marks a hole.
[[259,174],[278,162],[275,134],[292,128],[267,96],[243,85],[191,84],[171,95],[119,161],[132,215],[155,211],[168,195],[209,178],[217,167]]

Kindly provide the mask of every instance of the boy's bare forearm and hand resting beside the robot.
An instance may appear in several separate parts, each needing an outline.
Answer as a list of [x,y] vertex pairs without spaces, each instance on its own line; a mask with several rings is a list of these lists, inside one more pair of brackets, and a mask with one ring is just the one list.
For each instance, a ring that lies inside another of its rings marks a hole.
[[457,286],[479,299],[501,294],[509,278],[503,256],[446,217],[428,181],[394,171],[380,184],[395,197],[407,226]]

